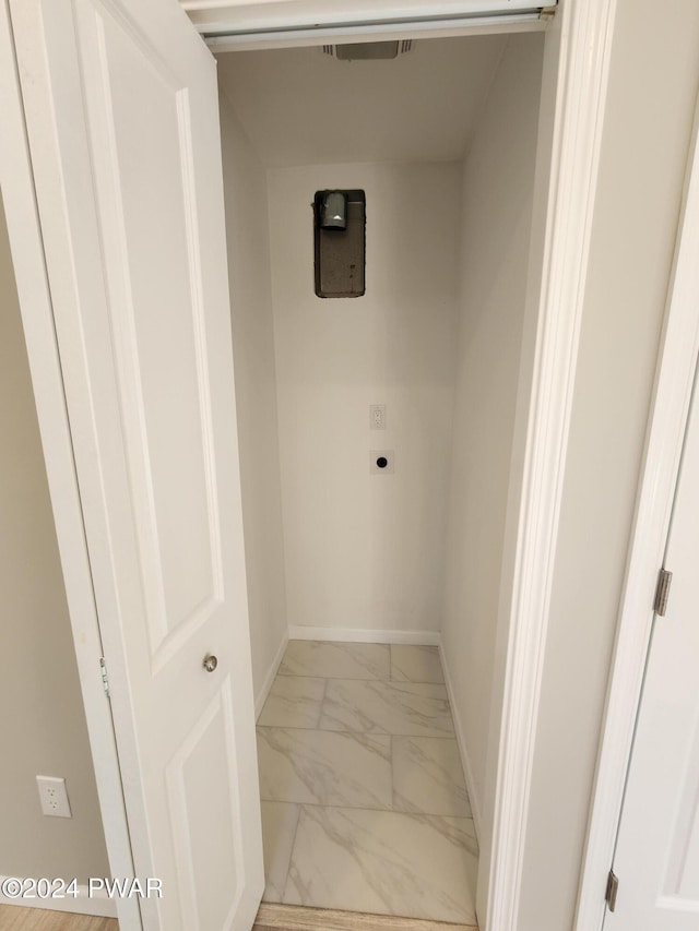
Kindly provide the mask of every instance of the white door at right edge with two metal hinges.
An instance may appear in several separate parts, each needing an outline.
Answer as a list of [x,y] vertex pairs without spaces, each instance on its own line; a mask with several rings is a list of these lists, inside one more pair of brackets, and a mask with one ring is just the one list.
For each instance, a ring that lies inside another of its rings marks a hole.
[[653,626],[605,931],[699,929],[699,397],[685,438],[665,566],[665,617]]

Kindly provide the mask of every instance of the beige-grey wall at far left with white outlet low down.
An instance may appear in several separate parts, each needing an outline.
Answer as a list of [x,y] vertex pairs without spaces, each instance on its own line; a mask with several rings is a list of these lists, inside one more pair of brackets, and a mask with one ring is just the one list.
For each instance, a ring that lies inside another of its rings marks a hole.
[[[109,875],[44,455],[0,201],[0,875]],[[66,778],[71,820],[36,775]]]

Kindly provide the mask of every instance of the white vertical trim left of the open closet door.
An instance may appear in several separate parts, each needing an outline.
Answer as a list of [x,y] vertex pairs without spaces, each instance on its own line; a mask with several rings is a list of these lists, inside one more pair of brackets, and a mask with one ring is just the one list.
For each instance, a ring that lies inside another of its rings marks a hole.
[[[102,683],[99,628],[93,598],[90,561],[82,524],[80,493],[54,331],[54,312],[46,277],[44,244],[7,0],[0,3],[0,112],[3,127],[3,141],[0,146],[0,182],[47,465],[87,733],[95,767],[102,823],[112,875],[133,876],[111,713]],[[141,927],[135,899],[120,899],[117,903],[117,912],[125,929]]]

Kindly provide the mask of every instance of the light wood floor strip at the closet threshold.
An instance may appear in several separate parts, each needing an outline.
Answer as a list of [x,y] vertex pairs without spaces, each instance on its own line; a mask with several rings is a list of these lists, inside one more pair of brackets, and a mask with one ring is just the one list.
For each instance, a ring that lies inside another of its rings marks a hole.
[[478,931],[475,924],[262,903],[252,931]]

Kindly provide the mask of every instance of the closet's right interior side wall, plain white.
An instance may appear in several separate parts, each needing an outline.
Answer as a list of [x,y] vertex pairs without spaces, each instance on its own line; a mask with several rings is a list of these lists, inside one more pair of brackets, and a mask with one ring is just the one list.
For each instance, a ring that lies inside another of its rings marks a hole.
[[443,654],[482,811],[519,383],[543,37],[510,37],[463,174]]

